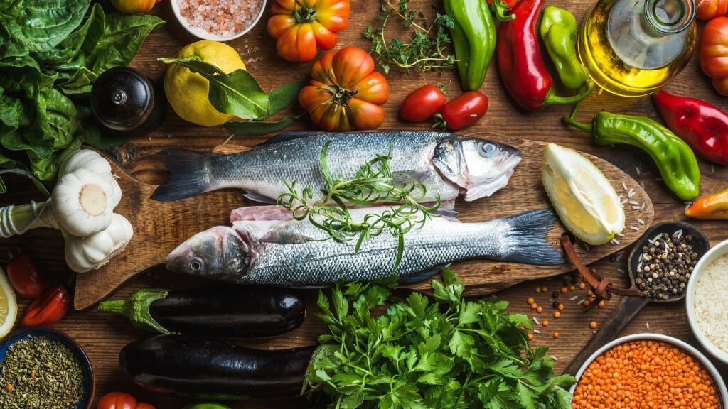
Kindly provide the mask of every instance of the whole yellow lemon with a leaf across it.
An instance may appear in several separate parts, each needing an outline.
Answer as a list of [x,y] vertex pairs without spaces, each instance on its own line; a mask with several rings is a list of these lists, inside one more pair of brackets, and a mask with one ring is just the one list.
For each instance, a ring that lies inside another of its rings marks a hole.
[[[245,69],[245,63],[237,51],[218,41],[194,42],[180,49],[175,57],[199,57],[203,62],[220,68],[225,74]],[[205,127],[221,125],[232,119],[232,115],[222,114],[210,103],[207,98],[209,91],[210,82],[203,76],[179,64],[172,64],[167,68],[165,94],[182,119]]]

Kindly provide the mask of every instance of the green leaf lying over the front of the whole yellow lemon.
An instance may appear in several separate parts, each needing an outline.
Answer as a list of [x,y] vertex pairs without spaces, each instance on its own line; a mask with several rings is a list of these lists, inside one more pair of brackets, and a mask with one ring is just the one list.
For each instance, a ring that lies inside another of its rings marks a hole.
[[248,71],[235,70],[225,74],[215,65],[208,64],[199,57],[159,58],[162,63],[177,63],[190,71],[200,74],[210,82],[207,95],[215,109],[242,119],[266,117],[269,112],[268,94],[258,85]]

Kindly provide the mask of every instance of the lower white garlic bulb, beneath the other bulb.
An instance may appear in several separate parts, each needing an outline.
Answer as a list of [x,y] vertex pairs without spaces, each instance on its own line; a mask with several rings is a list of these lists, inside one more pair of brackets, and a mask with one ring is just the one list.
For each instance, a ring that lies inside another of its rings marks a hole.
[[121,253],[133,234],[132,225],[127,218],[116,213],[111,215],[111,223],[106,230],[84,238],[64,234],[66,263],[77,273],[98,269],[114,255]]

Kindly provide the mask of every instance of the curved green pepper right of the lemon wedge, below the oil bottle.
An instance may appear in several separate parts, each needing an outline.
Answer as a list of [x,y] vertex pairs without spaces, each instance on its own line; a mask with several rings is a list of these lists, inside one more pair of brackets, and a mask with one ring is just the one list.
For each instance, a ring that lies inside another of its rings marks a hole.
[[660,170],[662,180],[680,199],[697,197],[700,169],[692,149],[667,127],[645,116],[600,112],[591,124],[583,124],[571,116],[564,122],[579,130],[592,132],[599,145],[626,143],[646,151]]

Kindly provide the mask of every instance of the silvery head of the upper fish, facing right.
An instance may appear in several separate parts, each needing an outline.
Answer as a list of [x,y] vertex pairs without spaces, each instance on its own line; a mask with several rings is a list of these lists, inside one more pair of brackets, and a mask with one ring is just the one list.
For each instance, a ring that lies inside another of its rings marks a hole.
[[470,202],[505,187],[521,159],[518,149],[493,140],[448,138],[438,143],[432,163]]

